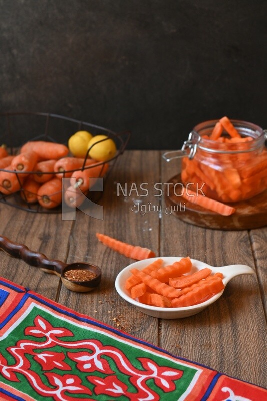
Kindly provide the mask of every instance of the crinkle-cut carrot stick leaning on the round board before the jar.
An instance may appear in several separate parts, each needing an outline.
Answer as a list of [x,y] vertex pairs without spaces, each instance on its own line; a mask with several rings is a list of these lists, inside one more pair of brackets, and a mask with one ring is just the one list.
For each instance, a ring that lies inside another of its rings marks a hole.
[[218,200],[203,196],[200,193],[195,193],[189,189],[184,192],[183,197],[188,200],[188,202],[199,205],[223,216],[230,216],[235,212],[235,208],[232,206],[225,205],[222,202],[218,202]]

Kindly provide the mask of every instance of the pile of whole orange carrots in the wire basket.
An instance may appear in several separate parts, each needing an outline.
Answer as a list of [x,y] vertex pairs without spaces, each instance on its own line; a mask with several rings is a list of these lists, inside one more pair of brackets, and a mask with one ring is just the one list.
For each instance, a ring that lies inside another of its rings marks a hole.
[[1,146],[0,192],[18,192],[27,204],[38,202],[51,209],[62,202],[61,178],[65,177],[70,178],[70,186],[64,191],[65,202],[70,207],[79,206],[78,197],[81,204],[92,185],[90,178],[104,176],[108,163],[90,158],[85,162],[68,154],[67,146],[45,141],[27,142],[17,155],[9,155]]

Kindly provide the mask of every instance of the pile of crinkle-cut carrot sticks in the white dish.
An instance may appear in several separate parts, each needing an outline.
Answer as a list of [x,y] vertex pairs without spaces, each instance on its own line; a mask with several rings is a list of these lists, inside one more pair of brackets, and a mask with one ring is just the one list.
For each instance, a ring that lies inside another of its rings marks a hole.
[[209,268],[192,273],[192,268],[189,257],[167,266],[159,258],[142,270],[131,269],[125,290],[143,304],[179,308],[202,303],[224,289],[222,273],[212,275]]

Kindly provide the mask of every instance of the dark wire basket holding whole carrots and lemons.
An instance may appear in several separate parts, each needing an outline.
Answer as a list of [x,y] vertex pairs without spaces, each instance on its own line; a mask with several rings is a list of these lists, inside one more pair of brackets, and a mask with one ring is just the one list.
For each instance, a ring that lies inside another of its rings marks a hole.
[[[90,124],[88,122],[76,120],[69,117],[64,117],[57,114],[51,113],[31,113],[31,112],[14,112],[14,113],[0,113],[0,145],[5,144],[9,155],[19,154],[20,148],[22,144],[25,144],[29,141],[46,141],[46,142],[54,142],[61,143],[67,146],[67,141],[75,132],[77,131],[89,131],[93,136],[95,135],[105,135],[107,139],[112,139],[117,148],[117,152],[114,157],[104,162],[97,162],[94,165],[86,165],[88,153],[91,148],[95,146],[91,146],[88,149],[87,154],[85,155],[84,162],[81,168],[75,170],[66,170],[63,172],[63,177],[67,173],[73,173],[75,171],[83,171],[90,168],[95,167],[96,165],[100,166],[99,169],[99,177],[102,176],[101,172],[104,166],[108,165],[107,171],[103,176],[103,182],[105,184],[108,175],[110,174],[112,168],[114,167],[118,157],[124,152],[127,143],[130,139],[130,132],[126,131],[123,133],[115,133],[107,128]],[[33,136],[32,133],[38,133],[36,136]],[[57,136],[57,140],[55,139],[55,135]],[[104,140],[107,140],[104,139]],[[102,139],[103,141],[103,139]],[[1,159],[0,159],[1,160]],[[9,170],[8,167],[0,168],[0,175],[2,171],[6,171],[6,174],[16,175],[16,179],[18,180],[19,190],[15,193],[9,192],[6,188],[4,190],[4,186],[0,182],[0,203],[4,203],[6,205],[13,206],[18,209],[23,209],[28,212],[34,213],[60,213],[62,211],[62,206],[58,205],[54,208],[47,209],[36,203],[27,202],[26,196],[24,194],[23,188],[23,180],[26,176],[25,172]],[[38,171],[27,171],[29,176],[31,174],[37,174]],[[56,177],[57,172],[51,173],[53,177]],[[97,178],[97,177],[95,177]],[[103,184],[103,186],[104,186]],[[5,193],[3,193],[5,192]],[[103,190],[98,191],[97,189],[93,191],[88,191],[85,193],[88,199],[91,199],[93,202],[96,202],[101,195],[103,194]]]

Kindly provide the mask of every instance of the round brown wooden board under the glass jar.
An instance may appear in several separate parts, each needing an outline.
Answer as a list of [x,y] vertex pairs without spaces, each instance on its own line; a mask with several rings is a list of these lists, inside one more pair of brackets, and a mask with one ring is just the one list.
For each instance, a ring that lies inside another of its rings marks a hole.
[[249,230],[267,226],[267,190],[251,199],[229,204],[236,212],[231,216],[222,216],[187,202],[181,196],[181,174],[172,177],[168,183],[164,194],[166,206],[171,214],[184,222],[219,230]]

